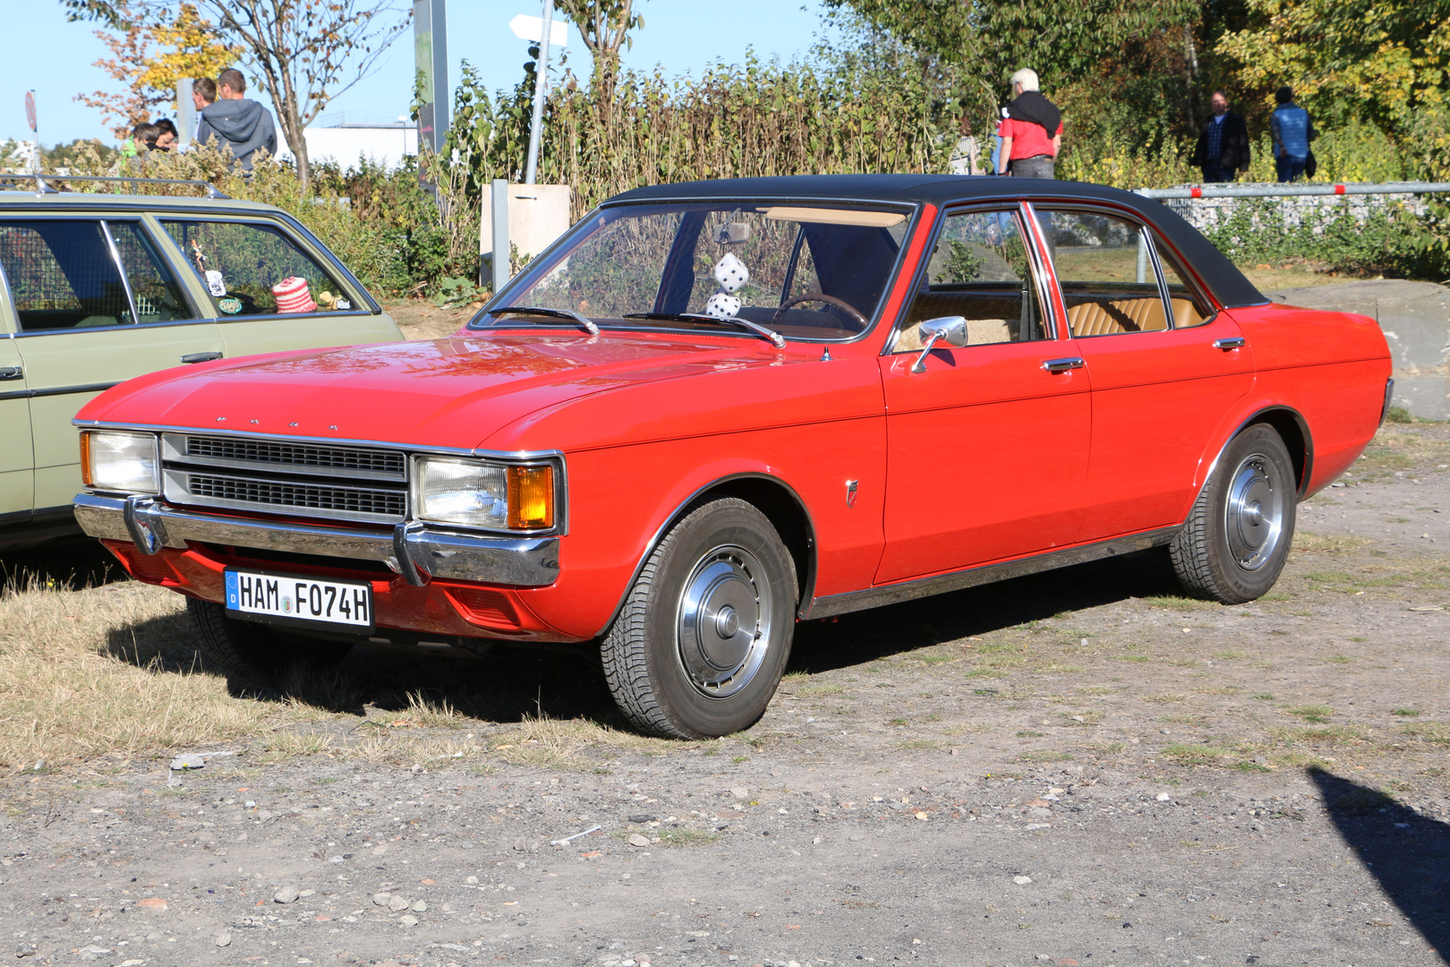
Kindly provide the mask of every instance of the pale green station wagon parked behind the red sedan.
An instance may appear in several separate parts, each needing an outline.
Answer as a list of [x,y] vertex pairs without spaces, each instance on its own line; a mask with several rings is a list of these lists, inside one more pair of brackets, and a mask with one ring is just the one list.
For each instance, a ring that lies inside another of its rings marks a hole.
[[403,338],[294,217],[196,184],[209,197],[0,191],[0,549],[78,532],[71,418],[97,393],[187,364]]

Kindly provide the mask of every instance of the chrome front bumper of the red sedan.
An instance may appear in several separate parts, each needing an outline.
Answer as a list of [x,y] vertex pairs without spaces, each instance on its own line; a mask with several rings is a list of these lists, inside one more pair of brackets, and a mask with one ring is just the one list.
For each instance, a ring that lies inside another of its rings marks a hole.
[[558,580],[558,538],[489,538],[400,523],[392,532],[177,510],[155,497],[75,496],[75,520],[93,538],[129,541],[145,554],[187,541],[290,554],[383,561],[422,586],[434,577],[544,587]]

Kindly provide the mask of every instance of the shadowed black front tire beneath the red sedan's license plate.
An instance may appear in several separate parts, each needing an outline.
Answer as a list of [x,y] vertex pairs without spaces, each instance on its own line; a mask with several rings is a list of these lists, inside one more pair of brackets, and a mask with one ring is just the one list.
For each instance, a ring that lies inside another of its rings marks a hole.
[[228,618],[226,607],[213,602],[187,599],[187,612],[202,639],[202,652],[226,673],[232,692],[268,689],[289,665],[334,665],[352,651],[347,642],[300,638]]

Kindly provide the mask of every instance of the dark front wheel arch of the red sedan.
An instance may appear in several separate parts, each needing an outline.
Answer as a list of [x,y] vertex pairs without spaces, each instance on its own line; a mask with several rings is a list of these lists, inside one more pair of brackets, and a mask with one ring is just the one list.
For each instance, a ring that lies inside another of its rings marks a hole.
[[815,523],[811,519],[811,512],[806,509],[806,503],[800,499],[800,494],[796,493],[796,489],[780,477],[773,477],[766,473],[745,471],[719,477],[702,486],[680,502],[680,505],[664,519],[664,523],[660,525],[645,544],[644,552],[635,563],[634,571],[629,574],[629,581],[625,584],[625,589],[619,596],[619,602],[609,613],[609,619],[605,621],[603,626],[596,632],[596,636],[608,632],[609,626],[619,616],[619,612],[625,605],[625,599],[629,597],[629,590],[639,578],[639,573],[644,570],[650,555],[654,554],[657,547],[660,547],[660,541],[664,539],[664,535],[667,535],[674,525],[683,520],[692,510],[703,503],[709,503],[710,500],[718,500],[721,497],[735,497],[738,500],[744,500],[764,513],[766,519],[770,520],[773,528],[776,528],[776,534],[780,535],[786,549],[790,551],[792,561],[795,561],[796,587],[800,593],[800,600],[796,602],[796,613],[800,613],[800,609],[809,603],[815,594],[816,532]]

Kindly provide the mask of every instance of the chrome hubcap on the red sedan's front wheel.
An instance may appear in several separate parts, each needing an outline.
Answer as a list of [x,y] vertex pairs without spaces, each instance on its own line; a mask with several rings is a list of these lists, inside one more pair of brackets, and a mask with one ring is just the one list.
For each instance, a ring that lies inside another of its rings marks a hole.
[[702,694],[726,699],[755,677],[770,649],[770,581],[734,544],[695,565],[680,594],[680,667]]

